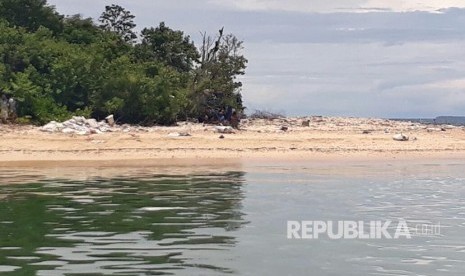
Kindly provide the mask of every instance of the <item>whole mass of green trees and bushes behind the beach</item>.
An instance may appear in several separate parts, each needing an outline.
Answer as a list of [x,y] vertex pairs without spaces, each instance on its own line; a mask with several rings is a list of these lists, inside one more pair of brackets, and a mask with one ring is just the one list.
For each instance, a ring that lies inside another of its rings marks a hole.
[[0,2],[0,89],[35,123],[73,115],[172,124],[227,107],[242,110],[242,41],[190,37],[161,22],[137,37],[134,16],[107,6],[96,24],[46,0]]

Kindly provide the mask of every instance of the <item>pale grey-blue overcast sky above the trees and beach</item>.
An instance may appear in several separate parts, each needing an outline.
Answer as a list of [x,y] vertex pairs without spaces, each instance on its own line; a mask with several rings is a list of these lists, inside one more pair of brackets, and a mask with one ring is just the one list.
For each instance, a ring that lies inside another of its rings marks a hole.
[[244,40],[243,97],[286,115],[465,115],[465,0],[49,0],[98,18],[119,4],[138,29],[160,21]]

